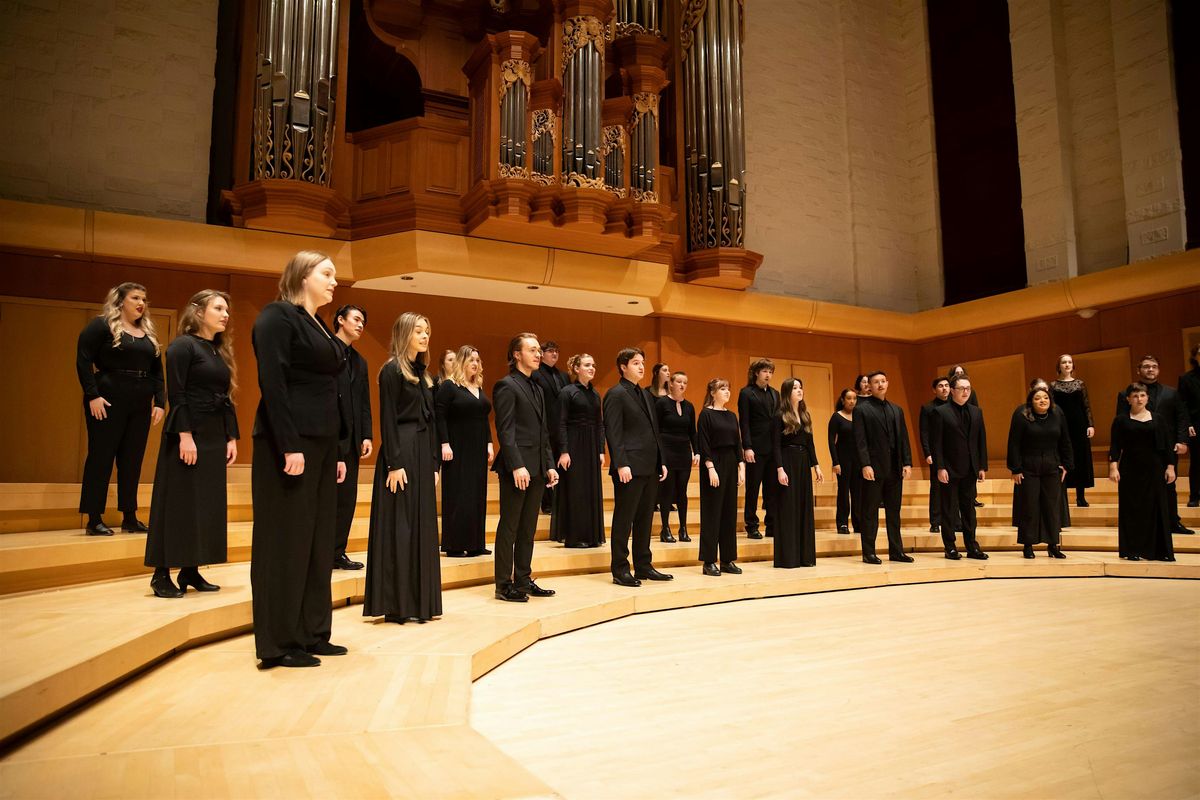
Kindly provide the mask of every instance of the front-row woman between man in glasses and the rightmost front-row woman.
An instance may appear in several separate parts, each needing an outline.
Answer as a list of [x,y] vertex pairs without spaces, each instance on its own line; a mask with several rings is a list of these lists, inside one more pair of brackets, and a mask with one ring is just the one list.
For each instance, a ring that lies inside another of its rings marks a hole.
[[1016,541],[1025,558],[1034,545],[1046,545],[1054,558],[1067,558],[1058,548],[1062,530],[1062,479],[1073,453],[1066,417],[1054,411],[1045,386],[1034,386],[1025,404],[1013,411],[1008,426],[1008,469],[1013,473],[1013,516]]

